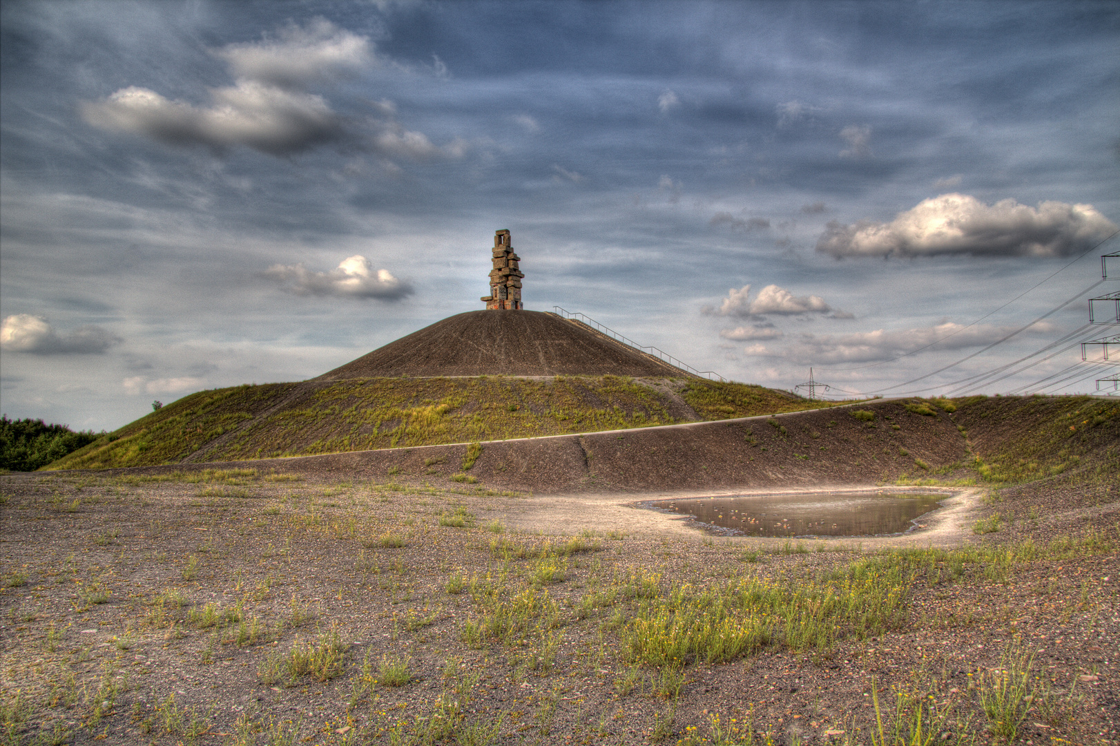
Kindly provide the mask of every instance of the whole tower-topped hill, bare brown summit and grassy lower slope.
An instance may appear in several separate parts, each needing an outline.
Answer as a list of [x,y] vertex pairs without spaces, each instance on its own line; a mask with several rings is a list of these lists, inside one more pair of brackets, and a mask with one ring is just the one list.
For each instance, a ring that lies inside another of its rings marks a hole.
[[701,379],[556,314],[483,310],[445,318],[310,381],[185,397],[52,468],[502,440],[827,405]]

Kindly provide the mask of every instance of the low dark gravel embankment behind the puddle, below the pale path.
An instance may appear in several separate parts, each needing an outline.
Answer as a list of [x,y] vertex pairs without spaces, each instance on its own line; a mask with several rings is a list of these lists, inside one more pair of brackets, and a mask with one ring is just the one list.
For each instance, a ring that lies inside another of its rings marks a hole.
[[[93,450],[86,454],[85,458],[94,457]],[[82,457],[75,454],[52,468],[81,468],[75,456]],[[436,487],[477,481],[487,489],[534,494],[978,485],[1029,488],[1023,493],[1026,515],[1030,501],[1037,504],[1039,491],[1051,495],[1051,502],[1071,505],[1118,497],[1120,405],[1090,397],[880,400],[757,419],[228,466],[316,478],[391,477]],[[152,473],[203,468],[203,464],[180,464],[155,467]],[[469,478],[464,474],[467,468]],[[1081,492],[1066,494],[1074,486]],[[1011,506],[1000,510],[1006,513]]]

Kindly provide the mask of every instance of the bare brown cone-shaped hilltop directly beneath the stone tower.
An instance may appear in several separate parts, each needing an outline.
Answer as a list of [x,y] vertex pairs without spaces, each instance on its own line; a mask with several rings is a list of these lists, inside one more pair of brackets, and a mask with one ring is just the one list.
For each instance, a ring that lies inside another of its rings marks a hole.
[[689,375],[554,314],[479,310],[436,321],[314,380],[503,374]]

